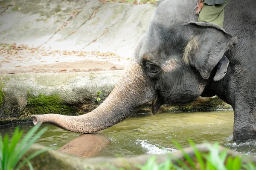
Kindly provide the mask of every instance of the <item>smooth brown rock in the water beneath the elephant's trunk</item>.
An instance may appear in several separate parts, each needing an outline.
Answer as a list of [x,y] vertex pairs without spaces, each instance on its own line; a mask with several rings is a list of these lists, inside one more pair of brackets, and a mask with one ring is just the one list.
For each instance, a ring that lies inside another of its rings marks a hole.
[[88,158],[99,153],[111,140],[103,133],[82,134],[57,151]]

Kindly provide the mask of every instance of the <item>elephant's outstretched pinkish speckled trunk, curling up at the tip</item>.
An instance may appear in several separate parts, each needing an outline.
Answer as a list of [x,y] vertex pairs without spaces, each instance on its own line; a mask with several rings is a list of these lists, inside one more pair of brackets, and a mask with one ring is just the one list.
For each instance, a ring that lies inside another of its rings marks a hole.
[[76,133],[93,133],[123,121],[137,107],[154,99],[156,94],[150,89],[143,68],[131,62],[108,98],[92,112],[79,116],[45,114],[32,117],[35,125],[48,123]]

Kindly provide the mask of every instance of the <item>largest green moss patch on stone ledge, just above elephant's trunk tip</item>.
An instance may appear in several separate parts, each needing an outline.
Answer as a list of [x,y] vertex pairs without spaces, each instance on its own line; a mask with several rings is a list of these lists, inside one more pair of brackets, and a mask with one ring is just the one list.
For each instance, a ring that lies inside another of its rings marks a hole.
[[58,94],[38,96],[28,95],[26,109],[30,114],[55,113],[61,115],[76,115],[78,110],[64,104]]

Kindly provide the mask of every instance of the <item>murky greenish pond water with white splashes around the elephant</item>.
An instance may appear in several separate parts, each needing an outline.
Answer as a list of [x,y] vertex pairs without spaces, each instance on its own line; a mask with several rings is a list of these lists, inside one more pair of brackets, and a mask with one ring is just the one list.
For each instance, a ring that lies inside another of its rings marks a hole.
[[[102,133],[111,138],[111,145],[105,147],[98,156],[136,156],[144,153],[164,154],[175,151],[172,139],[183,147],[189,146],[188,139],[195,143],[218,141],[221,145],[239,153],[256,155],[256,141],[244,143],[228,142],[233,133],[233,111],[192,112],[192,113],[157,113],[157,115],[137,114],[116,124]],[[0,127],[0,133],[12,134],[16,125]],[[32,124],[19,124],[27,132]],[[52,149],[58,149],[76,138],[78,133],[48,126],[38,140]]]

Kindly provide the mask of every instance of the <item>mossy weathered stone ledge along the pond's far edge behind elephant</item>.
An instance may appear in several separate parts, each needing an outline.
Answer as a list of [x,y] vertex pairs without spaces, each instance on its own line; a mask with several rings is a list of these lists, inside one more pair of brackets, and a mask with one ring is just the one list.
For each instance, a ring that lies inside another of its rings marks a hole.
[[[32,114],[81,115],[108,97],[123,70],[72,73],[3,74],[0,77],[0,125],[29,121]],[[100,93],[100,94],[99,94]],[[100,98],[100,100],[99,100]],[[98,100],[97,100],[98,99]],[[151,104],[138,112],[150,112]],[[162,112],[232,109],[217,97],[198,98],[186,106],[162,106]]]

